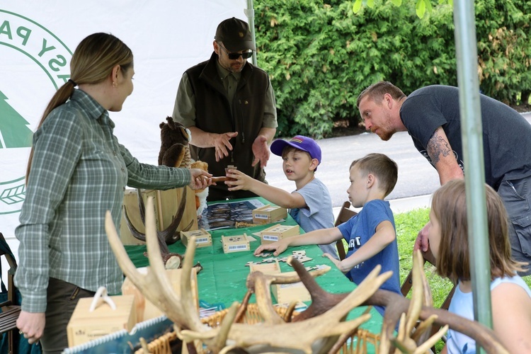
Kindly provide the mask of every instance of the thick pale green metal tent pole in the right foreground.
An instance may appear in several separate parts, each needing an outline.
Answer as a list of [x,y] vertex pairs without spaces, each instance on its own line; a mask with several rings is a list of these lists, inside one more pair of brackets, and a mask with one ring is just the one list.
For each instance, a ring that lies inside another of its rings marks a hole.
[[[483,129],[479,102],[473,0],[454,0],[457,82],[467,193],[467,221],[474,318],[492,328],[491,267],[485,202]],[[476,349],[479,353],[479,347]],[[482,350],[483,351],[483,350]]]

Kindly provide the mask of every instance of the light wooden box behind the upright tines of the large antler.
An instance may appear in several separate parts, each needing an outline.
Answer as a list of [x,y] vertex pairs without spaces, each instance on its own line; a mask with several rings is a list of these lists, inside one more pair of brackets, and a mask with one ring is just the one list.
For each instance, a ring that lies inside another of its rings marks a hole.
[[[138,268],[139,272],[147,273],[147,268]],[[177,295],[181,296],[181,274],[182,269],[166,269],[166,277],[171,287]],[[190,275],[190,285],[192,287],[192,297],[195,302],[195,308],[199,312],[199,294],[198,294],[198,275],[195,273],[195,269],[192,269]],[[162,316],[163,312],[156,307],[152,302],[142,295],[142,292],[135,287],[129,278],[125,278],[122,284],[122,295],[135,296],[136,312],[139,322],[146,321],[148,319],[154,319]]]

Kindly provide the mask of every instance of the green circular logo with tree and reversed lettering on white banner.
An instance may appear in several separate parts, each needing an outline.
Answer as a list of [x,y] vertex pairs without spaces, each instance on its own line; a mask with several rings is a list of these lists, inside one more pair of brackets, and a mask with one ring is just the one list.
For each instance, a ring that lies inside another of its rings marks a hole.
[[[70,78],[69,59],[72,57],[72,52],[50,30],[30,18],[0,9],[0,47],[4,47],[4,50],[17,51],[27,57],[34,64],[30,67],[35,71],[44,72],[55,90]],[[13,55],[13,58],[15,57],[16,55]],[[10,62],[9,56],[2,58],[2,65],[8,68],[17,68],[19,64],[15,59]],[[9,94],[6,92],[8,88],[16,87],[16,84],[20,86],[20,83],[9,81],[4,78],[0,81],[0,153],[10,154],[7,152],[9,149],[15,153],[25,148],[28,150],[25,154],[27,158],[33,132],[28,127],[30,125],[28,120],[18,113],[17,107],[11,105]],[[25,83],[23,88],[24,90],[18,90],[17,94],[27,96],[25,97],[27,104],[35,104],[32,101],[35,98],[32,95],[33,90],[43,90],[33,82]],[[38,102],[38,106],[46,104],[47,102]],[[2,169],[6,168],[7,166],[2,166]],[[4,180],[6,174],[0,174],[0,215],[20,212],[25,198],[23,171],[16,178],[13,176],[6,178],[7,181]]]

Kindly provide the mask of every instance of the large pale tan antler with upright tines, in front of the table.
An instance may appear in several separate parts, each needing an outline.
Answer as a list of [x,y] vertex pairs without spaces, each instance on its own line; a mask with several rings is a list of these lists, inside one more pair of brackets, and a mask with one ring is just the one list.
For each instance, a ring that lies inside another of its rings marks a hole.
[[[364,302],[390,276],[389,273],[378,275],[379,268],[373,270],[367,276],[366,281],[362,282],[353,292],[346,295],[336,306],[329,309],[328,312],[314,316],[311,319],[295,323],[279,323],[276,319],[268,321],[269,305],[259,304],[259,308],[265,309],[261,313],[266,319],[263,324],[260,326],[233,324],[232,320],[236,316],[238,309],[238,304],[235,303],[229,309],[229,314],[225,316],[222,324],[215,329],[210,329],[201,323],[195,310],[190,290],[190,272],[195,253],[195,242],[190,240],[185,253],[183,275],[181,276],[181,296],[179,297],[169,286],[164,272],[164,265],[159,256],[160,250],[156,239],[152,198],[148,198],[146,210],[146,241],[150,263],[147,274],[139,273],[127,256],[116,232],[110,212],[105,215],[105,231],[108,234],[110,246],[118,259],[120,268],[142,294],[176,324],[178,336],[186,343],[200,340],[215,353],[223,352],[230,348],[246,348],[246,350],[256,350],[258,352],[270,349],[295,349],[302,350],[304,353],[326,351],[333,344],[333,342],[330,343],[326,339],[337,338],[341,336],[341,333],[353,331],[370,318],[369,314],[365,314],[353,321],[343,322],[346,314],[351,309]],[[293,263],[295,262],[294,260]],[[260,278],[260,275],[255,276]],[[299,281],[299,278],[293,278],[293,280]],[[265,285],[261,285],[261,288],[264,292],[269,292],[268,287]],[[267,297],[258,295],[257,299],[263,302],[263,299],[267,299]],[[272,318],[272,316],[269,316],[269,318]],[[325,341],[320,342],[320,339]],[[321,346],[321,348],[315,348],[312,345]],[[323,348],[322,346],[328,348]],[[193,346],[188,346],[188,348],[190,350]]]

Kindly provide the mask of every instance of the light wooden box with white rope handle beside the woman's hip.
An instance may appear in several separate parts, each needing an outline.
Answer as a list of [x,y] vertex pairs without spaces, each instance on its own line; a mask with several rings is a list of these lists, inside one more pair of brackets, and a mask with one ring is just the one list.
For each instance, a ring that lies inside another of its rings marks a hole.
[[109,304],[100,299],[93,312],[89,312],[92,297],[79,299],[67,326],[68,346],[78,346],[96,338],[103,337],[137,324],[135,296],[111,296],[116,305],[113,310]]

